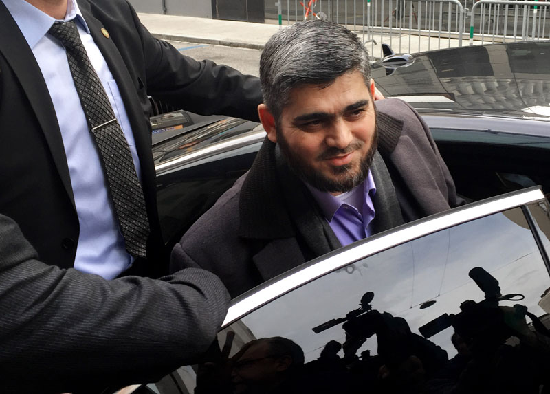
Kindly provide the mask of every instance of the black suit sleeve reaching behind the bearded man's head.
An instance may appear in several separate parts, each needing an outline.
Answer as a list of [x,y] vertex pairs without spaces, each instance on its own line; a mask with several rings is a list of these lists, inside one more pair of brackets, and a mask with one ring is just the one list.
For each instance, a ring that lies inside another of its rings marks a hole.
[[227,115],[259,122],[262,102],[259,78],[226,65],[184,56],[172,45],[155,39],[137,18],[142,38],[147,93],[182,109],[203,115]]

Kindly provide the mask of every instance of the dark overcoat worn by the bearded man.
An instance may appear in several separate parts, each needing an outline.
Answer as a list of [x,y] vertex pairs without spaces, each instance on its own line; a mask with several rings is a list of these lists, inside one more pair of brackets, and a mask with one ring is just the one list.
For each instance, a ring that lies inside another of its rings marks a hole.
[[[374,231],[459,205],[448,168],[418,113],[391,98],[376,106]],[[309,190],[266,139],[250,171],[175,245],[170,263],[172,270],[210,270],[237,296],[340,246]]]

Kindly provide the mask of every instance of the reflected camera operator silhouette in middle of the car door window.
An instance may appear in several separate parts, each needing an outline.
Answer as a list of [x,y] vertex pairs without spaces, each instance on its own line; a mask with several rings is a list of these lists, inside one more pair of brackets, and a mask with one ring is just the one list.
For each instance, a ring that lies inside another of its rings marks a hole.
[[[373,393],[420,393],[426,381],[448,361],[447,352],[412,333],[404,318],[372,309],[373,298],[373,292],[366,292],[361,298],[360,308],[350,311],[344,318],[314,327],[313,331],[320,333],[344,323],[342,328],[346,340],[342,344],[344,358],[340,362],[352,375],[352,391],[368,386],[369,392]],[[369,351],[365,351],[358,356],[356,353],[364,342],[375,334],[378,354],[371,356]],[[325,358],[325,354],[330,354],[336,366],[334,357],[338,355],[334,352],[337,347],[333,342],[325,346],[319,361]]]

